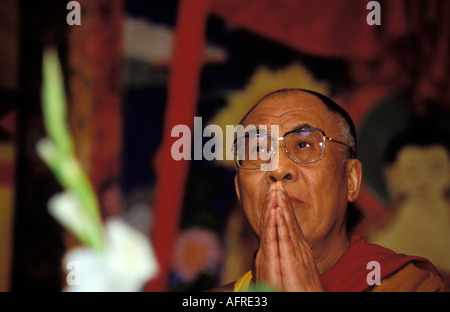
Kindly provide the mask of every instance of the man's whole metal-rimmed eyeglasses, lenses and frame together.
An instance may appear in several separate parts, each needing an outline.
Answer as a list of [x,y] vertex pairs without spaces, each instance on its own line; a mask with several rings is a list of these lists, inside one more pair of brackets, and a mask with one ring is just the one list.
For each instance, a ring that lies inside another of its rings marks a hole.
[[318,128],[301,128],[287,132],[279,138],[269,134],[252,133],[237,138],[233,143],[236,165],[242,169],[260,169],[270,163],[278,150],[278,142],[284,141],[281,149],[298,164],[309,164],[325,156],[325,143],[334,142],[350,149],[350,158],[355,158],[354,149],[341,141],[328,137]]

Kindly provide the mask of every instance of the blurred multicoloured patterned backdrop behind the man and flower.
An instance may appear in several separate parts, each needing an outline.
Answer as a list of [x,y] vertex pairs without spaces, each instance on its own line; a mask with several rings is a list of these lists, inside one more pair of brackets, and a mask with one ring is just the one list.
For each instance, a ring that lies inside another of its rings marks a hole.
[[[50,11],[21,2],[21,105],[17,123],[9,109],[0,120],[0,191],[18,199],[1,206],[4,220],[4,206],[16,214],[10,288],[62,289],[61,258],[79,244],[48,215],[60,186],[35,155],[50,44],[103,220],[123,218],[154,247],[159,271],[143,291],[207,290],[251,267],[258,244],[235,194],[226,129],[263,95],[290,87],[333,98],[355,122],[363,185],[348,231],[427,257],[450,276],[450,2],[380,0],[379,25],[363,0],[77,2],[80,25],[66,23],[67,2],[45,1]],[[182,133],[188,143],[177,149]],[[218,157],[207,159],[219,141]]]

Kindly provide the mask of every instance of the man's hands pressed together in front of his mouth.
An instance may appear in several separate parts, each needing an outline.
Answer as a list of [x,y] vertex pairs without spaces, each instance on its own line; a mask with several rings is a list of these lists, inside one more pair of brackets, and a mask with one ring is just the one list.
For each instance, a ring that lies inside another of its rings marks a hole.
[[323,291],[311,248],[281,181],[271,184],[266,195],[259,233],[257,283],[277,291]]

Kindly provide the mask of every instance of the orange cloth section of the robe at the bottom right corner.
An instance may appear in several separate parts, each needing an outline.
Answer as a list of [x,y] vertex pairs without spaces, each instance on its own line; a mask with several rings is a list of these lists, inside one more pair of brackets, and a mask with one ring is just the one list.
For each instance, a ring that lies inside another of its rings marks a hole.
[[408,263],[403,268],[381,280],[372,288],[374,292],[449,292],[439,274]]

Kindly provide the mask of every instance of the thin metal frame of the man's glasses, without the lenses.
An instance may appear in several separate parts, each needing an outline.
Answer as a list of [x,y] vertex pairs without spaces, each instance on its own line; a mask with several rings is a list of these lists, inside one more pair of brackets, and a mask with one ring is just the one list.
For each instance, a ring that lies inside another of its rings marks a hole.
[[[286,146],[285,137],[288,136],[288,135],[291,134],[291,133],[294,133],[294,132],[300,132],[300,131],[304,131],[304,130],[314,130],[314,131],[320,131],[320,132],[322,133],[323,150],[322,150],[322,153],[321,153],[321,155],[320,155],[320,158],[315,159],[315,160],[311,160],[311,161],[307,161],[307,162],[299,162],[299,161],[296,161],[296,160],[292,157],[291,153],[289,152],[289,149],[288,149],[287,146]],[[234,162],[236,163],[236,166],[238,166],[238,167],[241,168],[241,169],[245,169],[245,170],[257,170],[257,169],[260,169],[260,168],[264,168],[264,167],[267,166],[270,162],[267,162],[267,163],[264,164],[262,167],[258,167],[258,168],[245,168],[245,167],[242,167],[241,165],[239,165],[239,162],[238,162],[238,160],[236,159],[236,153],[235,153],[235,150],[236,150],[236,149],[235,149],[235,146],[236,146],[237,140],[239,140],[239,139],[241,139],[241,138],[243,138],[243,137],[246,137],[246,136],[248,136],[248,134],[245,135],[245,136],[241,136],[241,137],[239,137],[239,138],[236,138],[236,139],[233,141],[232,152],[233,152]],[[266,134],[266,136],[269,137],[270,139],[274,140],[274,141],[284,141],[284,147],[280,147],[279,150],[282,149],[285,153],[287,153],[287,154],[289,155],[289,158],[292,159],[292,161],[295,162],[296,164],[310,164],[310,163],[314,163],[314,162],[316,162],[316,161],[322,160],[322,159],[325,157],[325,150],[326,150],[326,143],[327,143],[327,142],[333,142],[333,143],[338,143],[338,144],[347,146],[347,147],[350,149],[350,152],[351,152],[350,158],[355,158],[355,150],[354,150],[353,147],[351,147],[350,145],[348,145],[348,144],[346,144],[346,143],[344,143],[344,142],[341,142],[341,141],[339,141],[339,140],[336,140],[336,139],[333,139],[333,138],[327,136],[327,135],[325,134],[325,131],[323,131],[322,129],[319,129],[319,128],[312,128],[312,127],[302,127],[302,128],[297,128],[297,129],[294,129],[294,130],[291,130],[291,131],[286,132],[283,136],[278,137],[278,138],[274,138],[274,137],[272,137],[270,134]],[[272,149],[273,149],[273,148],[272,148]],[[276,151],[271,151],[271,155],[272,155],[272,153],[276,153]]]

